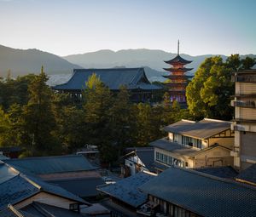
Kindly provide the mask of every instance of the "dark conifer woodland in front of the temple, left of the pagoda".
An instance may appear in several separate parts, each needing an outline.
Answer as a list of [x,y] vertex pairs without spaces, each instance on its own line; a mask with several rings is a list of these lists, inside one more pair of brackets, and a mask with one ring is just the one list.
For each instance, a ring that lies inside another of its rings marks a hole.
[[82,105],[68,94],[55,94],[41,73],[0,82],[0,146],[20,146],[23,156],[73,153],[86,144],[98,146],[102,162],[117,160],[125,147],[148,146],[163,136],[164,125],[189,117],[166,99],[159,106],[131,103],[129,91],[113,94],[92,75]]

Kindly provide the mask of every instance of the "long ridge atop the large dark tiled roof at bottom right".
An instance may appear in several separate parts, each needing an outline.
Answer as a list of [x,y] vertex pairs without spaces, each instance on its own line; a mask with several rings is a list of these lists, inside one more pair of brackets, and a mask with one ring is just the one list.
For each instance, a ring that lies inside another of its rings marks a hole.
[[181,168],[181,167],[178,167],[178,166],[172,166],[172,168],[181,169],[184,172],[187,172],[187,173],[190,173],[190,174],[197,174],[197,175],[200,175],[200,176],[205,177],[205,178],[210,178],[212,180],[217,180],[217,181],[222,181],[222,182],[225,182],[225,183],[230,183],[230,184],[233,184],[235,186],[246,187],[246,188],[249,188],[249,189],[252,189],[252,190],[256,191],[256,187],[247,186],[245,184],[238,183],[235,180],[227,180],[227,179],[220,178],[220,177],[212,175],[212,174],[202,173],[202,172],[199,172],[197,170],[190,169],[190,168]]

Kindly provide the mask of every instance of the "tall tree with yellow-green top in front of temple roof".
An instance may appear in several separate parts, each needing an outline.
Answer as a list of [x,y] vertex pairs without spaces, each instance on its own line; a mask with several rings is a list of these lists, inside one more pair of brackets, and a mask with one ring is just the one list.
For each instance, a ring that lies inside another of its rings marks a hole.
[[110,108],[113,97],[110,90],[93,74],[86,83],[83,93],[84,121],[86,123],[87,142],[98,146],[102,162],[113,161],[103,150],[111,149],[111,128],[109,128]]

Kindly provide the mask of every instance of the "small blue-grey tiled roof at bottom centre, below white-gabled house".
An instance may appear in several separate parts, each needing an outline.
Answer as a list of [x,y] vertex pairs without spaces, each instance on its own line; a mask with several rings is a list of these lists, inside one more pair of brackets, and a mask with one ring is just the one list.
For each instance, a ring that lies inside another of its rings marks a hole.
[[98,186],[97,189],[137,208],[147,201],[147,195],[139,191],[138,187],[154,177],[153,174],[140,172],[123,180],[119,180],[115,184]]

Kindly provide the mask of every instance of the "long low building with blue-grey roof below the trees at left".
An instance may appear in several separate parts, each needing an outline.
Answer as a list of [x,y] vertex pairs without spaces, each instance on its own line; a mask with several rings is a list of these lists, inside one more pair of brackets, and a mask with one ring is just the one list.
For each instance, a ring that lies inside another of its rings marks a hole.
[[24,174],[61,186],[79,197],[96,197],[104,182],[96,167],[82,155],[25,157],[4,160]]

